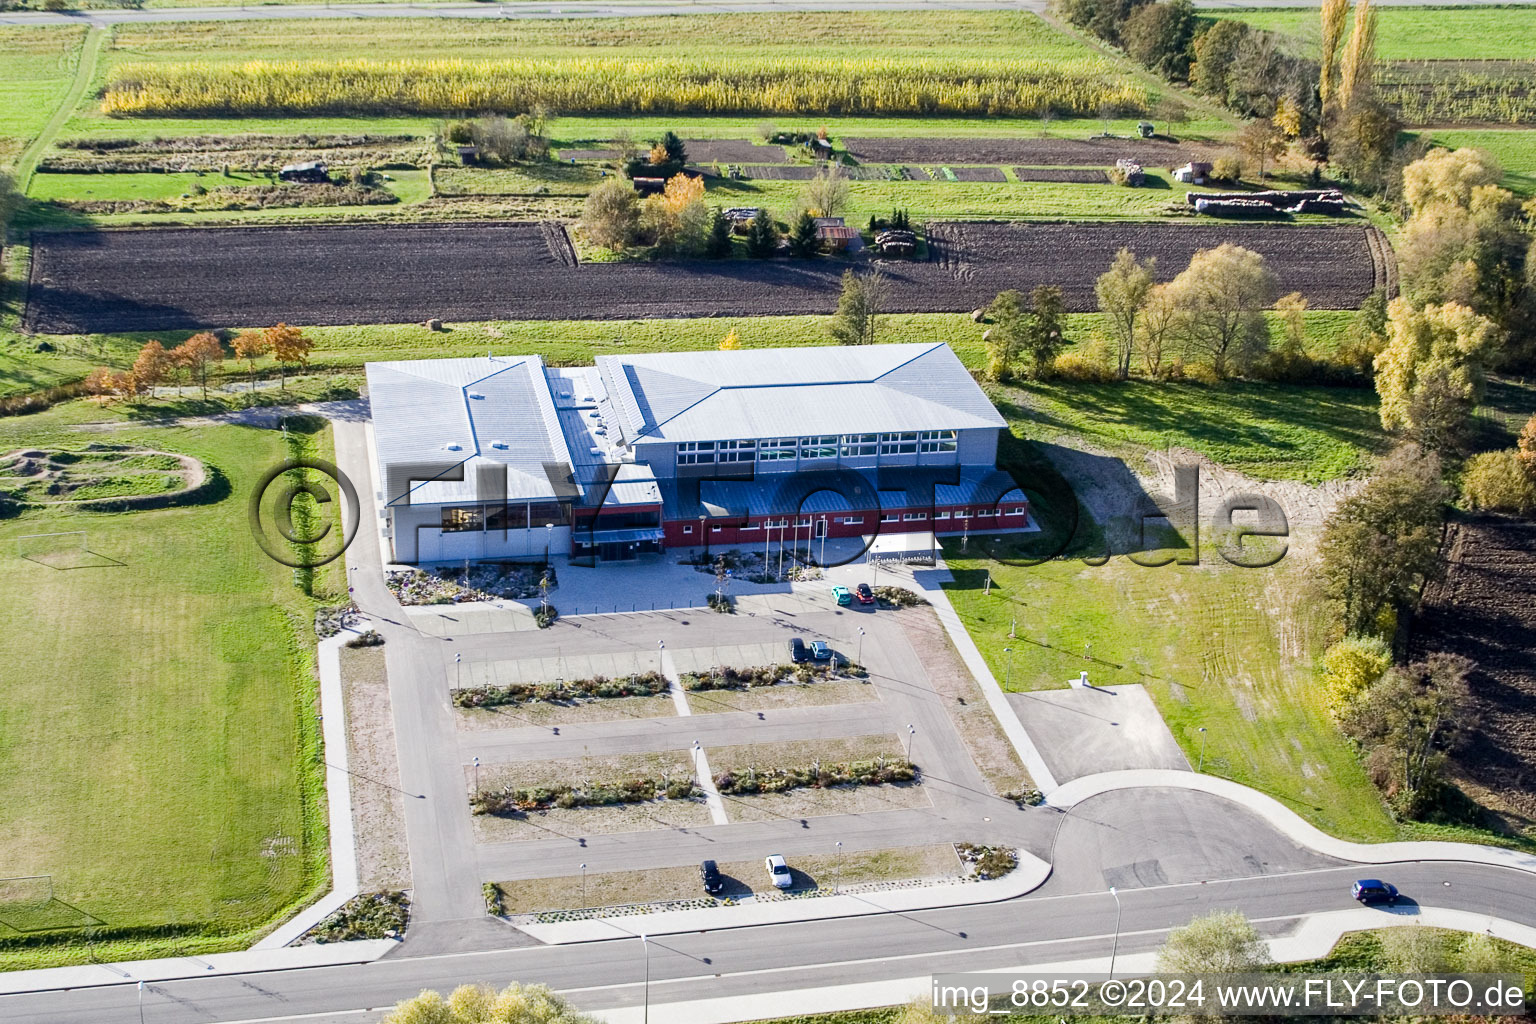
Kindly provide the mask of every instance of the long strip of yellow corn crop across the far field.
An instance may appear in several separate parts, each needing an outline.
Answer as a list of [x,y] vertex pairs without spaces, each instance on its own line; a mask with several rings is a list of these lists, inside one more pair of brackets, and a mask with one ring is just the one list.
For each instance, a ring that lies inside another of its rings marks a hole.
[[123,64],[101,109],[135,115],[955,114],[1137,115],[1100,58],[290,60]]

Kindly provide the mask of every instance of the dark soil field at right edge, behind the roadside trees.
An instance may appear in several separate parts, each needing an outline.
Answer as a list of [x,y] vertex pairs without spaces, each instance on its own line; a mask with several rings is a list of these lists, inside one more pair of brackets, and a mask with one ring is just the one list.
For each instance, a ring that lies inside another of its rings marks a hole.
[[1481,722],[1456,768],[1471,795],[1536,821],[1536,524],[1452,524],[1444,554],[1413,656],[1447,651],[1478,663],[1470,686]]

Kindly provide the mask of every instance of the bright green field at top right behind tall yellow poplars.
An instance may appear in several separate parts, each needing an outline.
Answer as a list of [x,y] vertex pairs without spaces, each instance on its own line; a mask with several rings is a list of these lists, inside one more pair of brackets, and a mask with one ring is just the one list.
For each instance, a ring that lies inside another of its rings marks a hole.
[[[1307,8],[1201,11],[1293,35],[1316,54],[1318,12]],[[1531,60],[1536,8],[1376,8],[1379,60]]]

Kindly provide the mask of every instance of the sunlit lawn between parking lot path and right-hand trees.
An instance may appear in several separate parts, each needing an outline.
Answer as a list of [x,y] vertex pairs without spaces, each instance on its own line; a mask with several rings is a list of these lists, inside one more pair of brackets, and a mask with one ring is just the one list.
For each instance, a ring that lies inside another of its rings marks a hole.
[[[945,543],[949,600],[992,672],[1011,689],[1063,686],[1083,668],[1098,685],[1144,683],[1193,761],[1281,800],[1352,840],[1396,838],[1381,798],[1321,702],[1313,660],[1322,617],[1299,591],[1296,559],[1240,570],[1203,551],[1198,567],[1014,567]],[[991,594],[985,580],[991,573]],[[1008,639],[1017,619],[1017,640]],[[1094,662],[1083,659],[1092,645]],[[1012,656],[1003,652],[1012,648]],[[1009,665],[1011,660],[1011,665]]]

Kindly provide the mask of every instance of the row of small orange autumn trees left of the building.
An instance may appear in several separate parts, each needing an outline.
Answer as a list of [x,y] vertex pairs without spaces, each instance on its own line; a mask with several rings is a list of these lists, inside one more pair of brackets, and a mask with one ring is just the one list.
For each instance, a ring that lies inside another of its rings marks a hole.
[[[292,367],[309,365],[309,353],[315,342],[298,327],[275,324],[266,330],[243,330],[230,341],[230,355],[244,362],[255,378],[257,359],[270,355],[278,364],[281,385],[287,387],[287,372]],[[214,332],[192,335],[180,345],[167,348],[158,339],[144,342],[127,370],[114,372],[97,367],[84,381],[86,393],[134,399],[152,393],[163,384],[181,387],[189,378],[203,388],[207,398],[209,378],[224,362],[224,345]]]

